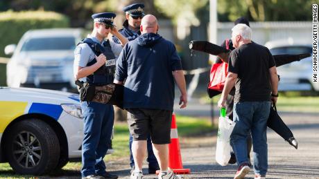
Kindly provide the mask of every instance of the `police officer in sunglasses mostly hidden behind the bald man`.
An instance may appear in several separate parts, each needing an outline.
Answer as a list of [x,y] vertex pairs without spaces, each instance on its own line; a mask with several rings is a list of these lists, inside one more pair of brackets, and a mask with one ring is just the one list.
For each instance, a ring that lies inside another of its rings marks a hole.
[[[133,3],[129,6],[123,8],[123,11],[126,13],[126,21],[123,23],[123,28],[119,32],[128,38],[128,41],[132,41],[141,35],[139,27],[141,26],[141,19],[144,17],[144,4],[143,3]],[[119,39],[113,36],[113,41],[119,43]],[[134,171],[135,164],[134,158],[132,155],[132,142],[133,138],[130,135],[130,167],[131,171]],[[156,157],[153,153],[152,142],[150,140],[150,135],[147,139],[147,151],[148,151],[148,173],[156,173],[160,169]]]

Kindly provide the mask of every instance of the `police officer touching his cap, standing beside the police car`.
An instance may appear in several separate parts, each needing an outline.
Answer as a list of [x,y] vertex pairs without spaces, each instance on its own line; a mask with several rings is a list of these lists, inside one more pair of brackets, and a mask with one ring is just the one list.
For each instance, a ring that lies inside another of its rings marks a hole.
[[[128,42],[114,26],[116,15],[103,12],[92,15],[94,28],[74,51],[74,77],[87,82],[88,86],[103,86],[114,79],[115,59],[122,46]],[[106,40],[115,35],[120,44]],[[81,88],[83,89],[83,88]],[[94,91],[87,90],[88,93]],[[94,94],[86,94],[85,97]],[[81,98],[82,99],[82,98]],[[86,99],[86,98],[85,98]],[[81,100],[84,115],[84,138],[82,144],[82,178],[118,178],[105,171],[103,158],[110,143],[114,124],[114,109],[110,104]]]

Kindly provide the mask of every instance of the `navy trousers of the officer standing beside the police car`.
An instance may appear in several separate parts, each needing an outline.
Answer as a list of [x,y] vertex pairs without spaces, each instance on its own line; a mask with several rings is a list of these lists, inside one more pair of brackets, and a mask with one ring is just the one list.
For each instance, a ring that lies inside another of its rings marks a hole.
[[81,174],[102,176],[106,173],[103,158],[112,135],[114,109],[97,102],[81,102],[81,109],[84,115]]

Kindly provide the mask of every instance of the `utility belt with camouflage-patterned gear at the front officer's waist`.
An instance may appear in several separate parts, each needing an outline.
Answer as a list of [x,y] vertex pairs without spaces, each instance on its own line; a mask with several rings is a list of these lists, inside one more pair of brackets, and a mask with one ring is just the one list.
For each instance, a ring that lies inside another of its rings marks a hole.
[[110,83],[97,86],[79,80],[76,80],[76,85],[79,86],[81,102],[112,104],[123,109],[123,85]]

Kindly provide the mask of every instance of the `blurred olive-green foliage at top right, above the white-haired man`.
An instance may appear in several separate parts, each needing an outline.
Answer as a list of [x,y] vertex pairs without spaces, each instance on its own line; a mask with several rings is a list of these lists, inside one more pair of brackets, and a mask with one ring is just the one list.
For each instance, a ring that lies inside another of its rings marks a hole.
[[226,15],[230,21],[241,16],[253,21],[311,21],[312,3],[319,3],[319,0],[218,1],[218,13],[221,17]]

